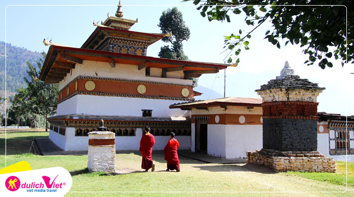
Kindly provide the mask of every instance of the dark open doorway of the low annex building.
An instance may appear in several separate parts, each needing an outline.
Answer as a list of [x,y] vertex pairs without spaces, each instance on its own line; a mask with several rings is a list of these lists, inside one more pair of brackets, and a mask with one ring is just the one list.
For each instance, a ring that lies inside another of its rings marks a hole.
[[196,121],[195,130],[196,152],[207,153],[208,150],[208,125],[207,121]]

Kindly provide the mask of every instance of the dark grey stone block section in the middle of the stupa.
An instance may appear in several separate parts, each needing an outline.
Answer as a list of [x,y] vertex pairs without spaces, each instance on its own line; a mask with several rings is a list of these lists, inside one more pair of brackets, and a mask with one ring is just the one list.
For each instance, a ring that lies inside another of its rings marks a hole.
[[263,148],[279,151],[315,151],[317,121],[263,119]]

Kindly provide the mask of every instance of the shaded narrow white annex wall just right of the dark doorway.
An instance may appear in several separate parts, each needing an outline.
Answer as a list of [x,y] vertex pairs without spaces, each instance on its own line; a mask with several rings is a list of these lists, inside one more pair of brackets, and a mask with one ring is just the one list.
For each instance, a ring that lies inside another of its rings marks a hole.
[[207,152],[213,156],[226,155],[225,125],[208,125]]

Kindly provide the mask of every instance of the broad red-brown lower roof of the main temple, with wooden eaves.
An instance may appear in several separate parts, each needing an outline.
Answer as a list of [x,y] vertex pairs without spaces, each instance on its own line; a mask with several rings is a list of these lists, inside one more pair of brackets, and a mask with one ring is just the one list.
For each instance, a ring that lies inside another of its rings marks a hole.
[[183,70],[186,77],[199,77],[203,73],[216,73],[225,69],[228,64],[204,63],[184,60],[172,60],[149,56],[79,49],[72,47],[50,46],[39,79],[46,83],[59,83],[75,64],[83,60],[108,62],[112,67],[116,63],[137,65],[137,69],[145,67],[162,68],[163,72]]

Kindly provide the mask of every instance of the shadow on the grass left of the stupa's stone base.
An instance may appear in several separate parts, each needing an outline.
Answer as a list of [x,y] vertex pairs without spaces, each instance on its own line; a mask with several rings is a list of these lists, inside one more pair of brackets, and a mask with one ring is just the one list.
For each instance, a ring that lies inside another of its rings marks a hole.
[[273,169],[258,166],[254,164],[224,164],[224,165],[215,165],[215,166],[193,166],[199,168],[200,170],[206,170],[210,172],[256,172],[261,174],[276,174]]

